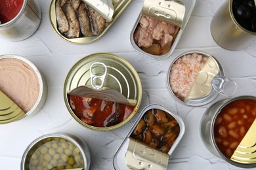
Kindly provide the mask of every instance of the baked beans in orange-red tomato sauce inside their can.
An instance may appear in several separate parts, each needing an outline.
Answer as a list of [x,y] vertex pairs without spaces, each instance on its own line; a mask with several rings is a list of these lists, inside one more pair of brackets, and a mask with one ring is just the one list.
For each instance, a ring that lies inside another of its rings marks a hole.
[[238,99],[226,105],[215,120],[214,137],[219,150],[231,158],[256,118],[256,101]]

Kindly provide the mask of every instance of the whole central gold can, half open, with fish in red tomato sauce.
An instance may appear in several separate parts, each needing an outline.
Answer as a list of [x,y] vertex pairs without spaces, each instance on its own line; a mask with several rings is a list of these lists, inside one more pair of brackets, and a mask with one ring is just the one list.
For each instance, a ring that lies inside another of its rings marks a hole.
[[77,61],[64,83],[64,101],[72,117],[97,131],[126,124],[139,109],[141,98],[137,71],[114,54],[91,54]]

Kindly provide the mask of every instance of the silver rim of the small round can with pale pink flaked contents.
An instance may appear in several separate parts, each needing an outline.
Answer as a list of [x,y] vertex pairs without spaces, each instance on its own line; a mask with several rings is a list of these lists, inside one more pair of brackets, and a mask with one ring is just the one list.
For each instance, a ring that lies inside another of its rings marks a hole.
[[215,59],[215,61],[217,61],[218,65],[219,65],[219,68],[220,68],[219,74],[220,75],[224,75],[223,67],[221,67],[221,64],[219,63],[219,61],[215,57],[213,57],[211,54],[209,54],[207,52],[203,52],[203,51],[200,51],[200,50],[191,50],[191,51],[187,51],[187,52],[183,52],[182,54],[179,54],[179,56],[177,56],[177,58],[175,58],[173,60],[173,62],[171,63],[171,65],[170,65],[170,67],[169,67],[169,69],[167,71],[167,78],[166,78],[166,80],[167,80],[167,87],[168,87],[168,90],[171,93],[171,95],[175,98],[175,100],[178,101],[179,103],[181,103],[182,105],[191,106],[191,107],[200,107],[200,106],[203,106],[203,105],[207,105],[208,103],[210,103],[211,101],[216,99],[216,97],[219,95],[219,93],[215,92],[210,99],[205,100],[205,101],[200,102],[200,103],[185,103],[184,101],[181,101],[175,95],[175,93],[173,93],[173,90],[171,90],[171,86],[170,86],[170,83],[169,83],[171,67],[173,67],[173,64],[175,63],[175,61],[177,61],[177,59],[181,58],[182,56],[184,56],[186,54],[192,54],[192,53],[203,54],[204,56],[211,57],[211,58]]

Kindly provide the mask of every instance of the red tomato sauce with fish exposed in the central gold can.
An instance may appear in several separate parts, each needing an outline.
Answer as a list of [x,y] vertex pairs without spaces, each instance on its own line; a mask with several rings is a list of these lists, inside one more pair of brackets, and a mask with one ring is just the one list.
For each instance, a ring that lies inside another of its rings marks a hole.
[[129,117],[135,108],[131,105],[70,94],[68,101],[77,118],[95,127],[119,124]]

